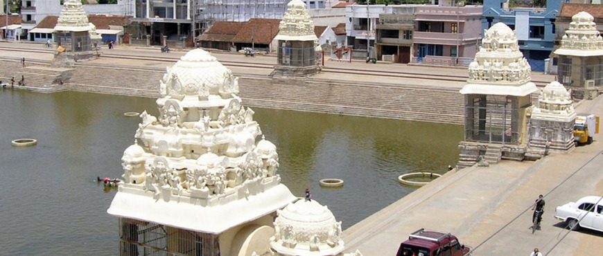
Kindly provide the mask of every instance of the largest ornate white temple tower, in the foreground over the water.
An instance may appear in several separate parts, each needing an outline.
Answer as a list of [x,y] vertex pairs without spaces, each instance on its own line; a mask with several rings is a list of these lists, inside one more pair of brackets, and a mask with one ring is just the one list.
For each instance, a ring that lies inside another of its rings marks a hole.
[[268,251],[277,210],[296,197],[280,183],[277,147],[261,137],[238,78],[202,49],[160,82],[158,116],[141,114],[123,152],[121,255],[251,255]]

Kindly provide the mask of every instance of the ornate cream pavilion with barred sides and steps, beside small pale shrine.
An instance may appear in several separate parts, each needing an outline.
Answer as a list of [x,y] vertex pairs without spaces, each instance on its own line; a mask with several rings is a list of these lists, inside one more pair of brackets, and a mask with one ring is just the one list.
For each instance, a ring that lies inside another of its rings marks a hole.
[[498,23],[485,31],[480,51],[469,64],[467,84],[460,90],[465,98],[465,132],[459,167],[480,160],[523,160],[526,111],[532,106],[530,94],[538,91],[530,71],[513,30]]

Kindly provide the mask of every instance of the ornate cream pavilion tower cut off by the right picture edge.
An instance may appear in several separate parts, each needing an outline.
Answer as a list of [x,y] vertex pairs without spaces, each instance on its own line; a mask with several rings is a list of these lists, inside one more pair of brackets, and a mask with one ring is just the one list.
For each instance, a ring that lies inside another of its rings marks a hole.
[[571,89],[575,99],[591,100],[603,89],[603,38],[593,15],[578,12],[561,37],[557,80]]

